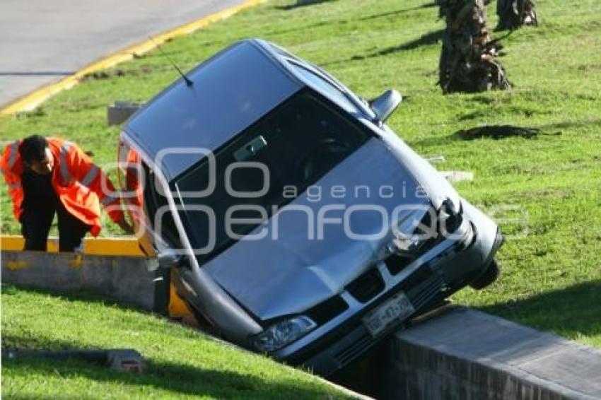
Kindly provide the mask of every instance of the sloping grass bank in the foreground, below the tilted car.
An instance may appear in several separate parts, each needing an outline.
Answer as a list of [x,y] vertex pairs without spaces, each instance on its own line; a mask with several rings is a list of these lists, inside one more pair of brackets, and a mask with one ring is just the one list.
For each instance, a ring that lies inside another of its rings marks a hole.
[[348,398],[313,375],[91,295],[5,286],[2,306],[2,348],[134,348],[148,362],[146,373],[135,374],[83,361],[3,358],[7,399]]

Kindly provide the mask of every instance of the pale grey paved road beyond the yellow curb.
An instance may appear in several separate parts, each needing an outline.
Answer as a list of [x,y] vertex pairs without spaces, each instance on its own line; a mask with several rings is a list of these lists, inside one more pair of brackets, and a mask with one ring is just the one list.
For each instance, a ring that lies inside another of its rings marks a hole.
[[241,0],[0,0],[0,107]]

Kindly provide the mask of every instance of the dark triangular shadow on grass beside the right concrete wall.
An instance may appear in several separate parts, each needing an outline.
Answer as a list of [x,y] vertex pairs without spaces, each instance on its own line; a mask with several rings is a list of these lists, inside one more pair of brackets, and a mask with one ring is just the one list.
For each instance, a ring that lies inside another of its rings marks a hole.
[[601,280],[479,308],[562,336],[601,334]]

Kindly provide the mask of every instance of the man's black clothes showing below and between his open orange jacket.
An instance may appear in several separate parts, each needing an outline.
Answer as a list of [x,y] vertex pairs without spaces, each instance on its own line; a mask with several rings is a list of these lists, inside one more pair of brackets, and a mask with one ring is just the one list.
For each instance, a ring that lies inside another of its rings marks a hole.
[[21,176],[23,184],[23,214],[21,233],[25,238],[25,250],[47,250],[47,240],[54,213],[58,214],[59,251],[73,252],[81,246],[81,241],[90,230],[66,211],[52,187],[51,175],[38,175],[26,170]]

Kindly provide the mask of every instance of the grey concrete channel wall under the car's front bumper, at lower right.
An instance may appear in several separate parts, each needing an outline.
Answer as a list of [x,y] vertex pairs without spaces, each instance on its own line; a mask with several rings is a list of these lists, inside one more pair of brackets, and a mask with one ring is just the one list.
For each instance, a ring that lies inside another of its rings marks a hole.
[[395,399],[600,399],[601,351],[457,307],[392,339]]

